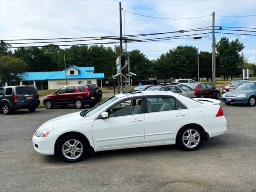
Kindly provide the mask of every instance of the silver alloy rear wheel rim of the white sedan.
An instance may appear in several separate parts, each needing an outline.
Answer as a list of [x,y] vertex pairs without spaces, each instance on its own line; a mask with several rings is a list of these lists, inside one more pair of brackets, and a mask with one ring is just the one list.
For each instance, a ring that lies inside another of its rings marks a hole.
[[186,130],[182,136],[182,141],[186,147],[193,148],[199,144],[200,134],[194,129]]

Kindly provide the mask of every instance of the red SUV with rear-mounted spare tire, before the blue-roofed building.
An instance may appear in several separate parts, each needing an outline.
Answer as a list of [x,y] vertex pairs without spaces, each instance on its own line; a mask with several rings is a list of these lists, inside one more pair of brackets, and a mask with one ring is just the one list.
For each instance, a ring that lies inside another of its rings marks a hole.
[[53,94],[44,97],[44,105],[52,109],[56,105],[67,106],[74,104],[81,109],[85,104],[95,106],[102,98],[102,91],[95,84],[68,85],[59,88]]

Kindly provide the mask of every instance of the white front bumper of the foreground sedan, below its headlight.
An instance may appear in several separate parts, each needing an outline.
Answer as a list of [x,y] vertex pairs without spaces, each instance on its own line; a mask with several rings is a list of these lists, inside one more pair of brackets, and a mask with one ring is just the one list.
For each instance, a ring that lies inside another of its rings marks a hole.
[[43,155],[53,155],[54,145],[58,136],[32,137],[34,150]]

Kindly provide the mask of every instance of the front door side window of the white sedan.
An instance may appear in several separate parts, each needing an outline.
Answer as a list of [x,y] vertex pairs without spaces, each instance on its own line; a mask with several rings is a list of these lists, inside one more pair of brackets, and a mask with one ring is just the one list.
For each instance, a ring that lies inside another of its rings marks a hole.
[[115,106],[111,107],[107,112],[110,118],[136,115],[141,113],[141,106],[142,99],[122,100]]

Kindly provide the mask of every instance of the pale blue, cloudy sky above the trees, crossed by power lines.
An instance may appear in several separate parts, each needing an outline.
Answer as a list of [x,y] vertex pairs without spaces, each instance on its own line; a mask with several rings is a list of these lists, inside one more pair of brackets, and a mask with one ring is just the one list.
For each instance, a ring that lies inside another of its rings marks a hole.
[[[73,38],[119,35],[119,2],[120,1],[96,0],[0,0],[0,39]],[[256,28],[256,16],[239,18],[220,17],[255,15],[255,0],[170,0],[121,2],[123,8],[123,35],[172,32],[209,27],[212,26],[212,12],[215,12],[216,14],[215,26]],[[131,14],[129,12],[162,18],[194,18],[206,15],[209,16],[184,20],[164,20]],[[255,31],[255,29],[242,30]],[[180,36],[206,32],[208,32],[208,34],[194,35],[203,36],[202,39],[196,40],[176,39],[128,43],[127,50],[141,50],[141,52],[143,52],[149,59],[156,59],[162,53],[168,52],[168,50],[179,45],[191,45],[198,48],[199,51],[212,52],[211,30],[136,37],[136,39]],[[216,32],[256,34],[255,32],[223,30],[216,30]],[[244,43],[245,48],[243,51],[248,56],[248,62],[256,63],[256,36],[216,34],[216,42],[223,36],[228,37],[230,40],[239,38],[240,42]],[[6,42],[14,43],[14,41]],[[34,40],[23,42],[42,41]],[[89,42],[113,42],[113,40],[62,42],[55,44],[86,44]],[[40,46],[44,44],[48,43],[23,45]],[[12,44],[13,47],[21,45],[22,44]],[[107,44],[105,46],[111,46],[113,48],[114,44]],[[68,48],[68,46],[63,46],[61,48]]]

